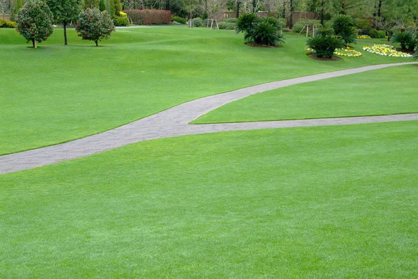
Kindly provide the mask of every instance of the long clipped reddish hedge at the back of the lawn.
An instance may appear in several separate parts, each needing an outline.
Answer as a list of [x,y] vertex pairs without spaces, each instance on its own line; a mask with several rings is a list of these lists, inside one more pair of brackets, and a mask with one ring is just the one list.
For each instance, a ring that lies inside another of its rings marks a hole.
[[171,12],[169,10],[124,10],[132,19],[133,24],[170,24]]

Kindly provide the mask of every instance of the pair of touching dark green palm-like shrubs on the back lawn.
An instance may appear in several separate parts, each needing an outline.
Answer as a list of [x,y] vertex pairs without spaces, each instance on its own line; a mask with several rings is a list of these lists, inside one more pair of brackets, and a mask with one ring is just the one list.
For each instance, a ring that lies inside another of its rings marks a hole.
[[244,33],[245,42],[278,46],[284,43],[284,35],[280,33],[282,27],[281,22],[273,17],[260,19],[255,14],[244,14],[238,18],[235,30]]

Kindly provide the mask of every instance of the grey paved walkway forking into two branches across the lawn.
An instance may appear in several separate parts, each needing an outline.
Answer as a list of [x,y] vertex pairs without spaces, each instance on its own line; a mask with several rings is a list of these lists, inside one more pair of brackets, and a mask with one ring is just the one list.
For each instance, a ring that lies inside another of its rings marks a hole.
[[104,131],[100,134],[79,138],[68,143],[61,143],[45,148],[28,150],[14,154],[0,156],[0,174],[13,173],[19,170],[37,168],[61,161],[68,161],[85,157],[98,152],[104,152],[124,145],[147,141],[156,138],[169,138],[173,136],[185,136],[190,134],[203,134],[217,131],[233,131],[245,129],[266,129],[283,127],[309,127],[318,125],[347,125],[370,122],[388,122],[403,120],[418,120],[418,113],[364,116],[350,118],[321,118],[310,120],[279,120],[264,122],[240,122],[226,124],[206,124],[190,125],[192,120],[208,113],[219,106],[229,102],[242,99],[249,95],[262,93],[268,90],[291,86],[298,83],[318,81],[320,79],[330,79],[341,77],[347,74],[356,74],[370,70],[382,69],[398,65],[408,65],[412,63],[394,63],[385,65],[372,65],[359,67],[350,70],[328,72],[325,74],[314,74],[308,77],[298,77],[284,81],[274,81],[258,86],[251,86],[234,90],[228,93],[211,95],[201,99],[195,99],[160,113],[150,115],[141,120],[134,121],[116,129]]

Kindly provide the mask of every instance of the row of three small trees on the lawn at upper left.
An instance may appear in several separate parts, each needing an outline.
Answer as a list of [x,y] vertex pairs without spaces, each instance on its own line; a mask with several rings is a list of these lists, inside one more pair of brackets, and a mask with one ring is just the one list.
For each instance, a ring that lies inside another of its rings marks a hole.
[[47,40],[52,35],[52,23],[59,21],[64,26],[65,45],[67,34],[65,26],[71,20],[77,19],[76,30],[83,40],[93,40],[98,46],[98,40],[109,38],[114,31],[114,23],[107,11],[103,13],[98,8],[86,8],[80,13],[80,0],[29,0],[17,11],[17,31],[31,41],[33,47],[37,42]]

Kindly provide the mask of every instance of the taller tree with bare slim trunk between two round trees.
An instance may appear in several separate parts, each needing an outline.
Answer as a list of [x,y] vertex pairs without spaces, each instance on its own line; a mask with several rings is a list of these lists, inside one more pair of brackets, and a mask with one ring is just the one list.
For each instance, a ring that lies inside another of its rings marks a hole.
[[83,0],[47,0],[55,22],[63,24],[64,45],[67,45],[67,24],[76,20],[82,10]]

